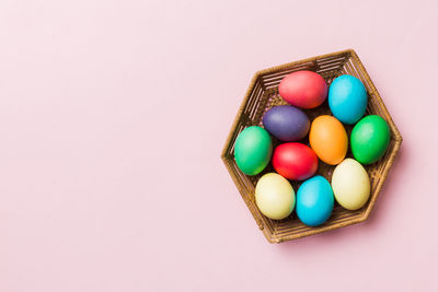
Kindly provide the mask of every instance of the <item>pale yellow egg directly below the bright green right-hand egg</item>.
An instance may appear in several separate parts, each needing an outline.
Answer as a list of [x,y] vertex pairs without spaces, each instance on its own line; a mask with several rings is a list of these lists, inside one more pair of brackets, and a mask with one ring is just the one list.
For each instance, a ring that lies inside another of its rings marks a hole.
[[364,207],[371,189],[367,171],[353,159],[346,159],[335,167],[332,188],[336,201],[351,211]]

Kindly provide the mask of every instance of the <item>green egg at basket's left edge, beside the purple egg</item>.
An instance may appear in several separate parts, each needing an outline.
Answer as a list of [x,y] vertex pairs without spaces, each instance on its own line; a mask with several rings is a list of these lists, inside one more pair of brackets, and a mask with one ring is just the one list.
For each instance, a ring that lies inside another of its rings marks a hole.
[[269,163],[273,141],[269,133],[257,126],[244,129],[235,140],[234,159],[238,167],[246,175],[261,173]]

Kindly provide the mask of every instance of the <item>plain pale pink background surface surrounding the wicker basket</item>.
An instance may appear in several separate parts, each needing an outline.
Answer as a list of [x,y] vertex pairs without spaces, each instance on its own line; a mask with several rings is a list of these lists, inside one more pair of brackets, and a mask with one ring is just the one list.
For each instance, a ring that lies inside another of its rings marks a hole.
[[[0,291],[436,291],[437,9],[2,0]],[[369,221],[270,245],[221,148],[256,70],[345,48],[401,153]]]

